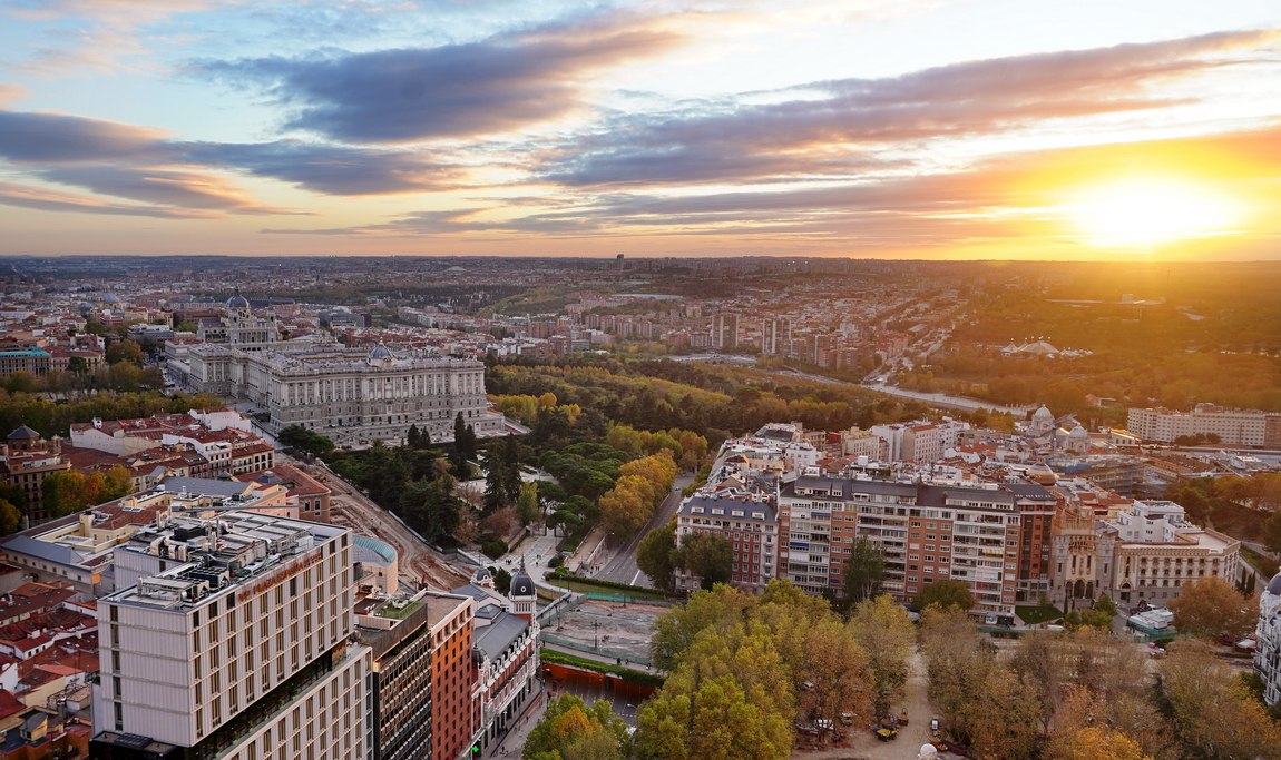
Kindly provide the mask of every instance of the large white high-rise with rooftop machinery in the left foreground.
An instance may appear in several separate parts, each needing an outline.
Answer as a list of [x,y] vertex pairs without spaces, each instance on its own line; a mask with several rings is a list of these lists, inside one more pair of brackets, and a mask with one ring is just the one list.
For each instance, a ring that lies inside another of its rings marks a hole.
[[373,651],[351,641],[351,532],[173,519],[99,600],[92,756],[373,757]]

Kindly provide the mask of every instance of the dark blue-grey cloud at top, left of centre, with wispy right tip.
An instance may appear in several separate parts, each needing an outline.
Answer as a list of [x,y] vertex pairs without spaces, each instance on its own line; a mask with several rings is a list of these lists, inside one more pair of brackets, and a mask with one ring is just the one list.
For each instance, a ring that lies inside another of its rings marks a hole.
[[352,143],[402,143],[516,131],[580,105],[584,79],[671,47],[640,24],[587,23],[429,49],[324,58],[205,61],[197,70],[266,91],[286,127]]

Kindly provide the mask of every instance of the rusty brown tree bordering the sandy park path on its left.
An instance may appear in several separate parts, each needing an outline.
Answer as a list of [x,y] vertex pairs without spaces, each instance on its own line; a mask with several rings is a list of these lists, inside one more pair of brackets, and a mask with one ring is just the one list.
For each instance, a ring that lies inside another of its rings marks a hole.
[[849,629],[867,653],[875,714],[884,715],[903,696],[916,627],[903,605],[883,594],[854,608]]

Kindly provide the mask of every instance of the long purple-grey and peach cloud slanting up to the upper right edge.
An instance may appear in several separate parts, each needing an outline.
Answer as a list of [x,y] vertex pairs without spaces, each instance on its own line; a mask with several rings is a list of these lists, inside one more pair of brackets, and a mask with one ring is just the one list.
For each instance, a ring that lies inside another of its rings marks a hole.
[[1276,40],[1276,32],[1225,32],[1022,55],[816,82],[763,105],[687,104],[667,114],[621,115],[550,154],[542,175],[596,186],[856,174],[883,148],[1189,102],[1157,86],[1239,64],[1246,58],[1228,54]]

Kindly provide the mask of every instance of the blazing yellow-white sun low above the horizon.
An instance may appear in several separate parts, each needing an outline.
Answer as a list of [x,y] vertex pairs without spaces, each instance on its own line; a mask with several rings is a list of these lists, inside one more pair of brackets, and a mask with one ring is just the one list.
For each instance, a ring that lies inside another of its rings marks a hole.
[[1161,243],[1231,234],[1237,205],[1184,179],[1123,179],[1082,188],[1068,216],[1085,242],[1150,251]]

